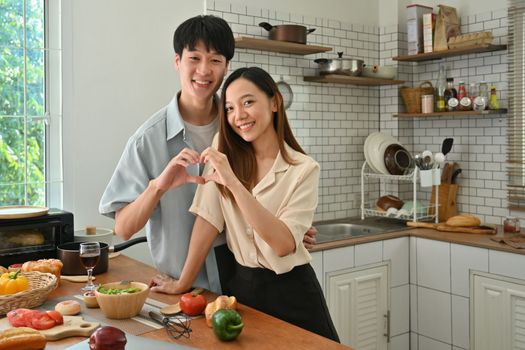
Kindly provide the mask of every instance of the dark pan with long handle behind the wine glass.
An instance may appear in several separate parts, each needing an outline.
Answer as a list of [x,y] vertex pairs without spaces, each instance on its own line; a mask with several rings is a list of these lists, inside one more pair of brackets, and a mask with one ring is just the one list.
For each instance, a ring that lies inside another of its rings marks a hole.
[[[147,241],[148,239],[146,237],[138,237],[120,244],[116,244],[112,247],[110,247],[107,243],[100,242],[100,258],[98,259],[97,266],[95,266],[93,269],[93,275],[98,275],[108,270],[109,253],[118,252],[137,243]],[[61,271],[63,275],[69,276],[86,274],[85,267],[80,263],[80,243],[82,242],[69,242],[58,245],[57,256],[64,264]]]

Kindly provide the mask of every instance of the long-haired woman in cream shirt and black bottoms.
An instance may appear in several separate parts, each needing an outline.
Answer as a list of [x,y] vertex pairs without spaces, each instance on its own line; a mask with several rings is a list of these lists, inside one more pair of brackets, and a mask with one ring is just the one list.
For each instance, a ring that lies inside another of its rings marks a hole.
[[184,269],[178,281],[156,283],[171,283],[173,293],[189,289],[225,229],[237,262],[226,286],[230,294],[339,341],[302,244],[317,206],[319,165],[295,140],[282,96],[264,70],[234,71],[224,83],[221,107],[218,148],[199,159],[206,163],[207,183],[190,208],[197,219]]

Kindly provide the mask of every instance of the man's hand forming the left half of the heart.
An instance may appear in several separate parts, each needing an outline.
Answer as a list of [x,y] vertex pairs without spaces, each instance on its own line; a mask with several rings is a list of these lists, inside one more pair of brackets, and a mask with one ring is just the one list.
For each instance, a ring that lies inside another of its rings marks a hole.
[[202,176],[191,176],[186,171],[186,167],[191,164],[199,163],[200,155],[192,149],[184,148],[173,157],[162,173],[157,177],[155,185],[161,191],[167,191],[171,188],[179,187],[188,182],[204,184]]

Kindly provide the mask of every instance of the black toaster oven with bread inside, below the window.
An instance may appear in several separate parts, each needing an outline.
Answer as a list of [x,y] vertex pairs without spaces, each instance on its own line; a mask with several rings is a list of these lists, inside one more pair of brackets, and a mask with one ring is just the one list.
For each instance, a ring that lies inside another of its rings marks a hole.
[[73,237],[73,214],[59,209],[37,217],[0,219],[0,265],[56,258],[57,246]]

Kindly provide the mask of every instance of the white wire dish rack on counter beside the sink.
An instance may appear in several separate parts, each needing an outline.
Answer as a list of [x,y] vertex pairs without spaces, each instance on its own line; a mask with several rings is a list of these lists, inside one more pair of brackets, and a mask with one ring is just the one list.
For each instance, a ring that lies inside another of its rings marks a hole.
[[[425,220],[430,221],[434,219],[436,223],[439,222],[438,210],[439,207],[439,185],[436,185],[436,196],[434,204],[428,206],[417,207],[417,190],[418,190],[418,180],[420,178],[419,168],[415,167],[410,174],[406,175],[385,175],[378,174],[374,172],[368,166],[368,163],[365,161],[361,168],[361,219],[364,220],[367,216],[383,216],[391,217],[400,220]],[[375,201],[371,203],[365,203],[365,180],[366,179],[379,179],[379,181],[391,181],[391,182],[412,182],[412,192],[413,192],[413,207],[412,213],[408,215],[396,214],[388,215],[386,211],[376,210]],[[422,214],[426,213],[426,214]],[[435,213],[435,214],[430,214]]]

